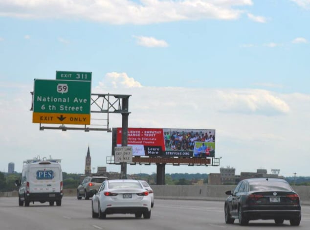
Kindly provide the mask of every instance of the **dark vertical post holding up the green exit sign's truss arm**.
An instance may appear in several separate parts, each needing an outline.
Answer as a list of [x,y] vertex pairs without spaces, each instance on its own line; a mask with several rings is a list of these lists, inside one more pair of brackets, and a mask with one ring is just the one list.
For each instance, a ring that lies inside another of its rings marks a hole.
[[[128,143],[128,101],[129,98],[122,98],[122,111],[127,111],[122,113],[122,146],[127,146]],[[120,179],[127,179],[127,163],[121,163],[121,178]]]

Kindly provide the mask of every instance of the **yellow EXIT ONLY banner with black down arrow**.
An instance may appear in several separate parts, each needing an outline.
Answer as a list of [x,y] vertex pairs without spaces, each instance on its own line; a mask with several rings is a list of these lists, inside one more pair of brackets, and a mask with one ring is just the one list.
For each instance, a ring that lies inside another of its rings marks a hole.
[[90,114],[32,113],[32,123],[90,125]]

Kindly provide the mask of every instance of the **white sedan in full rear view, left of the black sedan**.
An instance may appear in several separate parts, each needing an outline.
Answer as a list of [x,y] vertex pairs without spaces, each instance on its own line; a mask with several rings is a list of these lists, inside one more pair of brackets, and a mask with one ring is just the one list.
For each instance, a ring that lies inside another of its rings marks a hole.
[[137,180],[104,181],[91,201],[92,218],[105,219],[107,214],[132,213],[136,218],[151,217],[151,196]]

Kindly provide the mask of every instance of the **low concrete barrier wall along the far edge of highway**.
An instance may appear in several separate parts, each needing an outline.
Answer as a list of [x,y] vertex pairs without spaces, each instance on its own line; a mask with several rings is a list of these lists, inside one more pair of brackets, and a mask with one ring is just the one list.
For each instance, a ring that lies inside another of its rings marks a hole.
[[[158,199],[216,200],[227,198],[225,191],[233,190],[236,185],[152,185],[154,196]],[[310,205],[310,186],[292,186],[299,194],[301,204]],[[76,196],[76,189],[64,189],[64,196]],[[17,191],[1,192],[0,197],[17,197]]]

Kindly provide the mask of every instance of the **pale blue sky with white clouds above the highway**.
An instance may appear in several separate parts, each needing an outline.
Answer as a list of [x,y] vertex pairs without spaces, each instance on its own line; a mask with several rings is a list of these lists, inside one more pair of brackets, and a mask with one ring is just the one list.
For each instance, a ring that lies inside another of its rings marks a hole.
[[92,72],[92,93],[131,95],[129,127],[216,130],[220,166],[166,173],[310,176],[309,26],[310,0],[0,0],[0,171],[51,156],[84,173],[89,147],[91,167],[120,172],[111,133],[32,123],[34,79],[63,70]]

